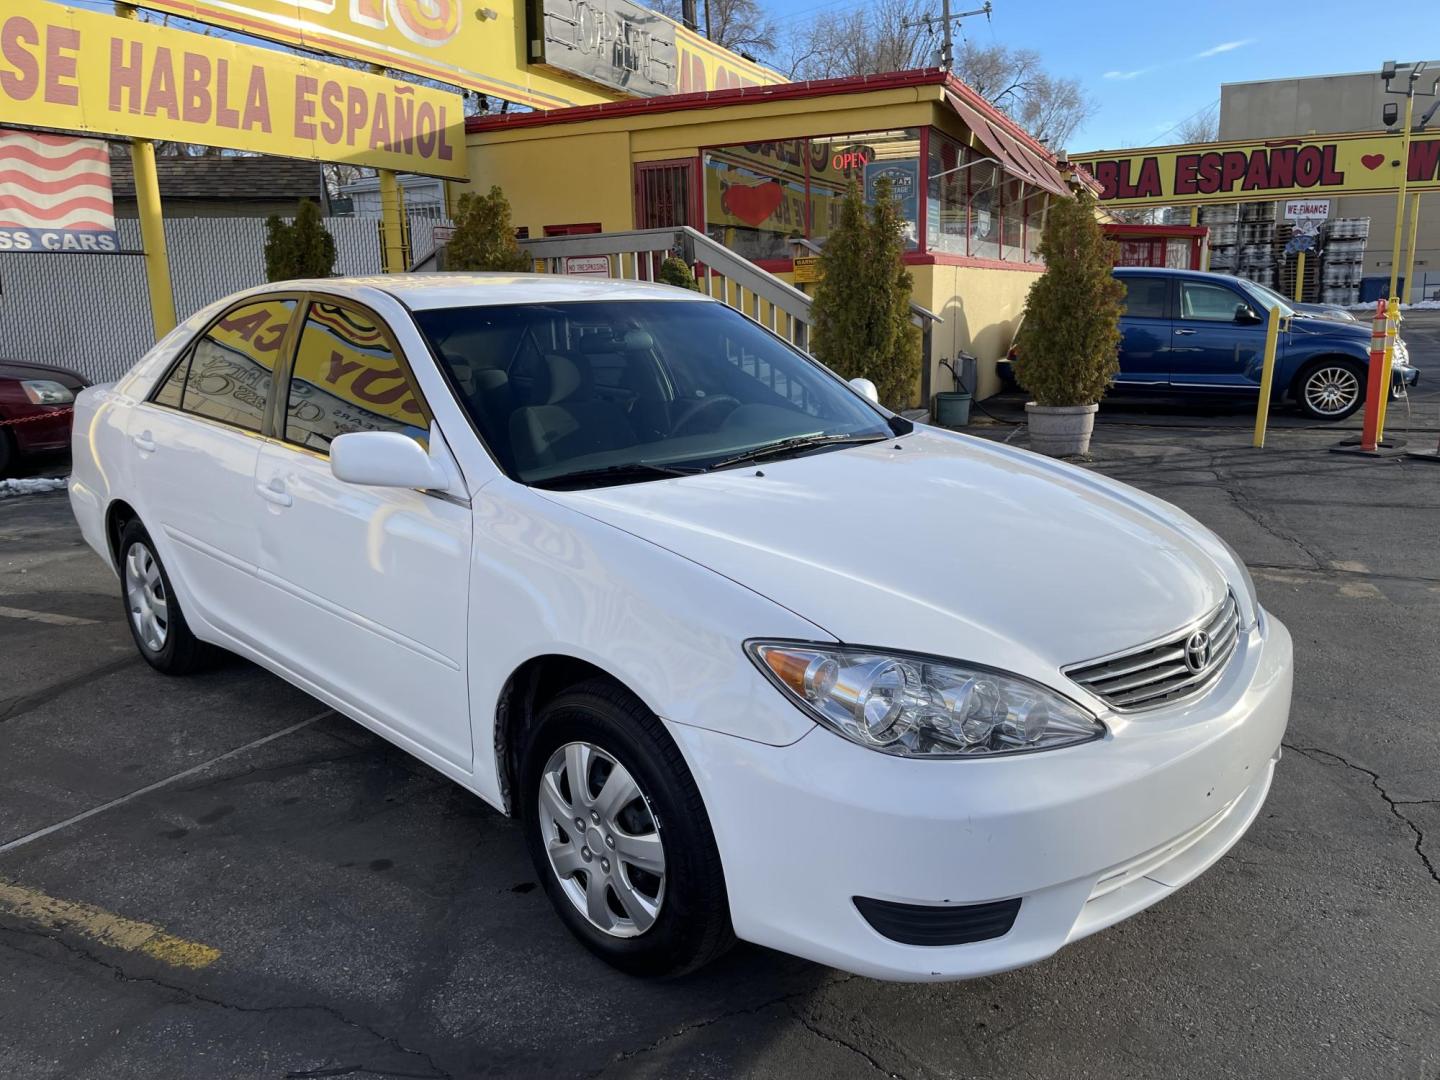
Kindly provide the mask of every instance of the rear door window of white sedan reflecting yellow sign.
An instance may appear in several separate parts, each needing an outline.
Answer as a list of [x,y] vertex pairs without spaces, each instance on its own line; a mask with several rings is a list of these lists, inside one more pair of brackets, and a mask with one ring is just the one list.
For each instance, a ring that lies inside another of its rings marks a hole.
[[242,431],[262,431],[275,360],[294,314],[294,300],[262,300],[225,312],[151,400]]

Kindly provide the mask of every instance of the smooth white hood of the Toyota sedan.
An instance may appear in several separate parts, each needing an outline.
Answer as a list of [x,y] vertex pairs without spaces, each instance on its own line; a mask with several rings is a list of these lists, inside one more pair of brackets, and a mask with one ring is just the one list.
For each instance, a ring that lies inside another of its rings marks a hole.
[[1228,588],[1224,547],[1174,507],[932,428],[760,467],[544,494],[840,641],[1050,681],[1066,664],[1181,629]]

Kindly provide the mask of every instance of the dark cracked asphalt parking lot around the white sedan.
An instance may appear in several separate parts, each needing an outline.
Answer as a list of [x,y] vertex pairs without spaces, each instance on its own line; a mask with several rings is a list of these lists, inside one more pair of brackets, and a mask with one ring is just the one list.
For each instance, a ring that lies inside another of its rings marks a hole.
[[[1391,431],[1433,446],[1440,312],[1405,334]],[[1094,467],[1220,531],[1295,634],[1266,809],[1159,906],[952,985],[749,946],[615,973],[510,821],[245,662],[153,674],[65,497],[0,501],[0,1076],[1436,1080],[1440,464],[1248,423],[1106,406]]]

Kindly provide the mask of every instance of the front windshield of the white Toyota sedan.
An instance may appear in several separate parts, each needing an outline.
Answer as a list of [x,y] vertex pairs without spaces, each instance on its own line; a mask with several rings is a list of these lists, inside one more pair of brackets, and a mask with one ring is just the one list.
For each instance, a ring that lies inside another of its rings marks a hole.
[[631,482],[899,431],[724,304],[482,305],[415,320],[491,452],[526,484]]

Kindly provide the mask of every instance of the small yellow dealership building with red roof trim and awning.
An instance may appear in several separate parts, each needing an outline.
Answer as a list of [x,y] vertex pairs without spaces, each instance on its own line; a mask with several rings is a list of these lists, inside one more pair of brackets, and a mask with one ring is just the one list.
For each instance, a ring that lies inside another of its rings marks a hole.
[[469,187],[501,187],[523,236],[690,226],[786,281],[847,186],[888,179],[913,300],[943,320],[922,405],[959,353],[979,360],[979,396],[998,389],[1050,202],[1089,183],[937,69],[475,117],[465,153]]

